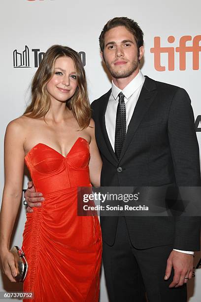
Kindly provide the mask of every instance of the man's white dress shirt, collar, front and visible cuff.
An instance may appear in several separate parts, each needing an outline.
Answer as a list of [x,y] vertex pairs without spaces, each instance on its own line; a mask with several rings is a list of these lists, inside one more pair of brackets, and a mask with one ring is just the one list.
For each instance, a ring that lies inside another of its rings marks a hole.
[[[134,79],[123,90],[118,88],[112,81],[112,92],[109,97],[109,101],[105,112],[105,126],[113,150],[114,150],[114,141],[115,141],[116,113],[117,113],[117,106],[119,103],[118,94],[122,92],[125,96],[124,102],[126,105],[126,131],[127,131],[128,125],[134,113],[135,105],[137,103],[139,94],[144,84],[144,80],[145,77],[142,75],[141,71],[139,71],[139,73],[134,77]],[[192,255],[194,254],[194,252],[191,251],[180,251],[175,249],[174,251],[182,252],[185,254],[192,254]]]

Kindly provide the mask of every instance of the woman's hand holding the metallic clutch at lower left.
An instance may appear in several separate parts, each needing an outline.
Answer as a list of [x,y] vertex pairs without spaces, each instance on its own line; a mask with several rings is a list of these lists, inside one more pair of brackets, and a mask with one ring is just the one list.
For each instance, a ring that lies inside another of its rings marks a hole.
[[2,272],[8,277],[11,282],[16,282],[13,277],[17,276],[17,269],[15,267],[13,254],[9,250],[0,252],[0,260]]

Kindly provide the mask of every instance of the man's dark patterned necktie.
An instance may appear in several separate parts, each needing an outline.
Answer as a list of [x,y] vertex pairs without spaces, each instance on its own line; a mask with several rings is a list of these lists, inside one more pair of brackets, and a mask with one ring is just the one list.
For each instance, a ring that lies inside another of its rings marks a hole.
[[117,107],[116,115],[114,151],[117,158],[119,159],[126,138],[126,105],[124,102],[125,96],[122,92],[118,94],[118,97],[119,104]]

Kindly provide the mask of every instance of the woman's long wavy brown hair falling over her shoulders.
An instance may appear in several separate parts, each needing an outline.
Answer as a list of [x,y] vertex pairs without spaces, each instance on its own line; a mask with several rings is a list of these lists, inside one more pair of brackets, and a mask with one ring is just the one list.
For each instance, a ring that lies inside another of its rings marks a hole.
[[70,47],[53,45],[45,53],[32,80],[32,101],[24,115],[32,118],[45,117],[50,109],[50,97],[46,85],[53,76],[55,61],[60,57],[69,57],[75,65],[77,88],[74,95],[67,100],[67,107],[72,110],[79,127],[89,126],[91,109],[87,94],[87,81],[84,67],[78,53]]

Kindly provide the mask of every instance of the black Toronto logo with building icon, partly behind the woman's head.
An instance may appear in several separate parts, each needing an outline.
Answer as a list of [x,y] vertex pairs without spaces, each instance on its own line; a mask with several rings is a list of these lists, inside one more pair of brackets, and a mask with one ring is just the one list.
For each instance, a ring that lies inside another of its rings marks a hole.
[[[14,68],[31,68],[30,60],[33,62],[33,67],[38,68],[45,52],[40,51],[40,48],[30,49],[25,45],[25,49],[22,52],[19,52],[17,49],[13,51],[13,67]],[[86,65],[86,53],[84,51],[78,52],[82,65]]]

